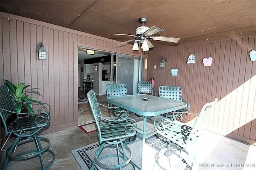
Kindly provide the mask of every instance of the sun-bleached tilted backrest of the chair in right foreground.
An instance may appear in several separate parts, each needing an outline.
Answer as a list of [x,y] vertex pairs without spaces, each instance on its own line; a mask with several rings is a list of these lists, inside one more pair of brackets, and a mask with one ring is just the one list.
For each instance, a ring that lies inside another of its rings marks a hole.
[[[206,103],[202,107],[198,117],[196,118],[196,122],[194,123],[192,130],[190,131],[188,139],[198,136],[198,132],[200,132],[200,130],[202,130],[202,128],[204,127],[205,121],[210,115],[210,113],[212,112],[212,109],[214,108],[214,105],[217,103],[217,101],[218,99],[215,98],[214,101]],[[187,140],[187,141],[190,141],[190,140]]]

